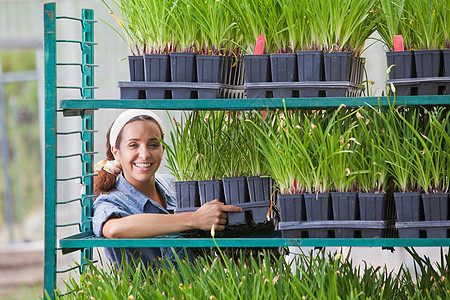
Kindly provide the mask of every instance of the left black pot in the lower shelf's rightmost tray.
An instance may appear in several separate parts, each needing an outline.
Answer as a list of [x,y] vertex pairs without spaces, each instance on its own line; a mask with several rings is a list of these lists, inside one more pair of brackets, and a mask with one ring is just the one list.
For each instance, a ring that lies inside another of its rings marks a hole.
[[419,192],[394,193],[398,222],[423,221],[423,204]]

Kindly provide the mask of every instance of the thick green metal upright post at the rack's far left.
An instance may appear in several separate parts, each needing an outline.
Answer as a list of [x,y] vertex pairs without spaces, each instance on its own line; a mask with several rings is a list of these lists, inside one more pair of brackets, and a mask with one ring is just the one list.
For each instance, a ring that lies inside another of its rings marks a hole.
[[55,3],[44,5],[45,56],[45,293],[56,288],[56,15]]

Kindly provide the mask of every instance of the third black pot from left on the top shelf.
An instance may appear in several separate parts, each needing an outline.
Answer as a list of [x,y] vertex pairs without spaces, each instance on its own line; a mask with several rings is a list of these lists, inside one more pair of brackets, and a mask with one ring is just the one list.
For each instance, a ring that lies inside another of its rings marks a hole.
[[196,54],[186,52],[170,53],[170,75],[172,82],[196,82]]

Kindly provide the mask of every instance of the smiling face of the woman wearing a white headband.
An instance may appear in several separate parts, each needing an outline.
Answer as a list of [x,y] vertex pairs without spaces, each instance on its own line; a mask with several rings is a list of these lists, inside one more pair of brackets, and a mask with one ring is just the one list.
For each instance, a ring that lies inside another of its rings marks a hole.
[[164,153],[160,138],[158,125],[150,120],[134,121],[123,127],[119,149],[112,147],[112,153],[122,165],[125,179],[133,186],[145,186],[154,180]]

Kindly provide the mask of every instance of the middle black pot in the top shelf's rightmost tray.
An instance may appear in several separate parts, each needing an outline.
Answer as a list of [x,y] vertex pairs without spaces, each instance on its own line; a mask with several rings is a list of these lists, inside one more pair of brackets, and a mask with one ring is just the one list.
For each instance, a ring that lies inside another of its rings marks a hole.
[[417,78],[441,76],[441,55],[439,49],[414,51]]

